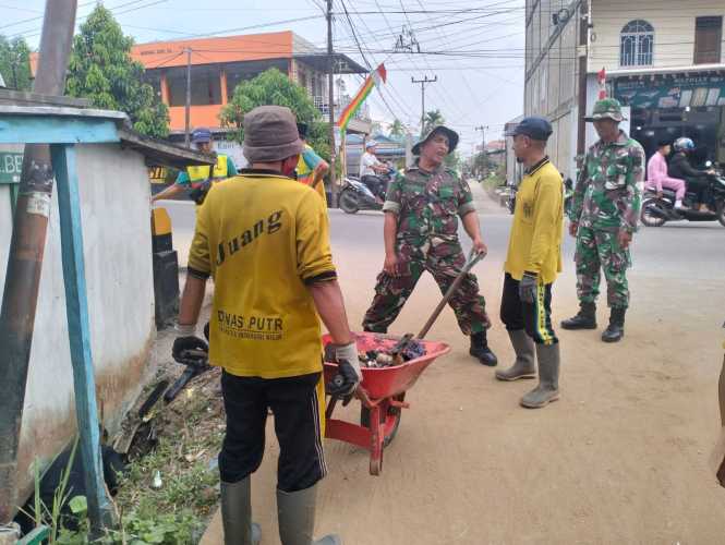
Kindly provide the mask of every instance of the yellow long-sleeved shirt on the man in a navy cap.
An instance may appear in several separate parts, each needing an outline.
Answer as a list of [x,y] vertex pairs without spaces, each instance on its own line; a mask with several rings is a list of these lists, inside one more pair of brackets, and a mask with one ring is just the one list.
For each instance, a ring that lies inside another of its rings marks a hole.
[[524,271],[552,283],[561,271],[564,185],[548,158],[528,172],[516,193],[513,225],[504,268],[516,280]]

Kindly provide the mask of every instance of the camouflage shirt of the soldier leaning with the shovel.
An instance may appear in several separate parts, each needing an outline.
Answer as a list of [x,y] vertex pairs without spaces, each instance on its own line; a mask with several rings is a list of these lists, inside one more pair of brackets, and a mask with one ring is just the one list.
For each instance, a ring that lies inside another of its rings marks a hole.
[[458,237],[458,216],[475,210],[468,182],[445,167],[426,172],[418,166],[399,174],[387,192],[384,211],[398,216],[398,239]]

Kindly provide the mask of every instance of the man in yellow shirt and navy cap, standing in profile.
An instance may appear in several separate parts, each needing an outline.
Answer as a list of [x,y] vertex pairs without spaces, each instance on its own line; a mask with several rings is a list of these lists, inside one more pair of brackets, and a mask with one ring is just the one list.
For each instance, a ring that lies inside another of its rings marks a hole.
[[561,174],[546,156],[551,134],[548,121],[527,118],[507,135],[513,137],[513,153],[527,170],[516,194],[500,308],[516,362],[497,371],[496,378],[535,378],[535,354],[539,386],[521,398],[521,404],[529,409],[559,398],[559,341],[552,328],[552,284],[561,270],[564,190]]

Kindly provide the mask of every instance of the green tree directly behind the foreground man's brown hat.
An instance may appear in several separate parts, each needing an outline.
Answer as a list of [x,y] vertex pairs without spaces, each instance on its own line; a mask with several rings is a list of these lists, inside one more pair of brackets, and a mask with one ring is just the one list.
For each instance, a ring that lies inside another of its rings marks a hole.
[[244,114],[257,106],[287,106],[292,110],[299,122],[306,123],[307,142],[315,152],[329,160],[330,145],[327,123],[323,122],[322,113],[315,107],[307,90],[292,82],[276,68],[262,72],[259,75],[234,87],[231,100],[221,110],[221,123],[235,129],[234,140],[244,141]]

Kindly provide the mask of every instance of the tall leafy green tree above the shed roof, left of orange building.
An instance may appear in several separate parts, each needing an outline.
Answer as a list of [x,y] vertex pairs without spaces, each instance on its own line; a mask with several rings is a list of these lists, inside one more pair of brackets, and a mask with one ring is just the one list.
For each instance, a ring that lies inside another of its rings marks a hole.
[[96,7],[73,40],[67,93],[97,107],[129,114],[133,129],[164,137],[169,111],[154,87],[143,82],[144,66],[131,59],[133,39],[124,36],[111,12]]

